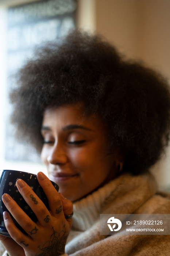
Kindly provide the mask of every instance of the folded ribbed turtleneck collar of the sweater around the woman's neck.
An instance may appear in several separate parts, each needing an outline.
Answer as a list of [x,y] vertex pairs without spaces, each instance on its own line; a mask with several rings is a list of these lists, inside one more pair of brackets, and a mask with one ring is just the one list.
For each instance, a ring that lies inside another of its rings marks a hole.
[[[128,198],[128,193],[129,195],[132,195],[136,189],[139,189],[139,187],[141,187],[141,198],[143,197],[141,200],[146,200],[147,197],[153,195],[157,190],[157,185],[155,184],[152,174],[149,172],[139,176],[121,174],[119,177],[105,184],[97,191],[94,191],[92,194],[73,203],[74,215],[72,230],[85,231],[89,229],[96,221],[100,219],[100,214],[104,213],[103,205],[108,201],[114,200],[112,196],[113,194],[115,194],[115,198],[119,197],[120,195],[123,203],[123,198]],[[135,197],[138,196],[139,195],[135,195]],[[140,203],[142,203],[142,201]],[[138,207],[137,204],[136,207]],[[115,210],[117,211],[116,205]]]

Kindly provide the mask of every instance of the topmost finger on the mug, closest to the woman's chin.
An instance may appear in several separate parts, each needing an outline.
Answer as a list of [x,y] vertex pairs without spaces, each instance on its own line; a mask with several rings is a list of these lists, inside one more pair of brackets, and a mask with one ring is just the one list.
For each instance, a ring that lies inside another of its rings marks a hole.
[[45,192],[47,199],[49,201],[51,214],[55,217],[61,218],[62,216],[64,216],[64,214],[62,200],[59,196],[59,193],[44,173],[39,172],[37,174],[37,178],[40,186],[43,188],[43,191]]

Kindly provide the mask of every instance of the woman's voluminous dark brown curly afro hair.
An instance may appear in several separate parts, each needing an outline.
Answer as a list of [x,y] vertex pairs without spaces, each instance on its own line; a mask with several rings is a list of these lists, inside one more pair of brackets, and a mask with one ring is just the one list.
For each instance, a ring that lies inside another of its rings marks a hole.
[[38,152],[43,113],[49,106],[82,102],[86,114],[97,113],[111,145],[125,155],[124,169],[147,170],[169,142],[170,92],[157,72],[126,60],[102,37],[71,31],[62,41],[36,49],[18,72],[11,93],[12,122],[19,138]]

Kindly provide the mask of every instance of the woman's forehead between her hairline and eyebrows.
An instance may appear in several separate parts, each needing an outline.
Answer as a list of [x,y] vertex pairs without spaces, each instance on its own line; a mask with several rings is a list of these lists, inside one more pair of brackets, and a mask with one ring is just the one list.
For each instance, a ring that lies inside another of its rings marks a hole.
[[42,125],[86,125],[90,128],[104,129],[105,125],[97,114],[85,114],[80,103],[47,108],[43,115]]

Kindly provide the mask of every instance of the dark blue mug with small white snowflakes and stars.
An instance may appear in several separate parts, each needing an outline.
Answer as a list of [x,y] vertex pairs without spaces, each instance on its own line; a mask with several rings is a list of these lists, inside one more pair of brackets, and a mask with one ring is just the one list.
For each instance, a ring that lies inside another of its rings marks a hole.
[[[36,195],[40,198],[40,200],[42,200],[42,202],[45,204],[45,206],[49,210],[49,203],[48,203],[47,197],[42,187],[40,187],[35,174],[20,172],[15,170],[0,170],[0,221],[1,221],[0,234],[8,237],[10,237],[10,235],[4,225],[3,212],[4,211],[9,212],[9,211],[7,210],[7,208],[5,207],[2,201],[2,196],[4,193],[7,193],[8,195],[10,195],[13,198],[13,200],[15,200],[15,202],[22,208],[22,210],[26,212],[26,214],[32,219],[32,221],[34,222],[38,221],[38,219],[36,218],[36,215],[34,214],[34,212],[32,212],[30,206],[28,206],[28,204],[26,203],[26,201],[24,200],[24,198],[19,193],[16,187],[16,181],[19,179],[24,180],[31,187],[31,189],[36,193]],[[58,191],[59,189],[58,185],[53,181],[51,182],[54,188]],[[26,232],[22,229],[22,227],[19,226],[19,224],[15,221],[13,217],[12,219],[15,222],[15,225],[24,234],[26,234]]]

